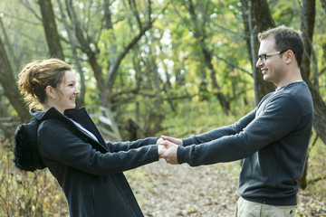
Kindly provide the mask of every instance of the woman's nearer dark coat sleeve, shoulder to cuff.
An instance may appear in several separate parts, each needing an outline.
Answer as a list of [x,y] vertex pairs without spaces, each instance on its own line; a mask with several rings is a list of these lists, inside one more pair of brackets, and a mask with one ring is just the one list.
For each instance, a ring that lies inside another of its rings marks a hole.
[[101,153],[87,139],[85,142],[85,139],[77,137],[68,127],[54,120],[43,121],[39,127],[38,148],[44,161],[54,161],[92,175],[120,173],[158,161],[156,145]]

